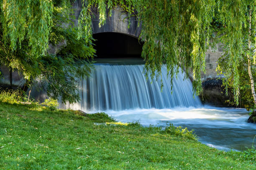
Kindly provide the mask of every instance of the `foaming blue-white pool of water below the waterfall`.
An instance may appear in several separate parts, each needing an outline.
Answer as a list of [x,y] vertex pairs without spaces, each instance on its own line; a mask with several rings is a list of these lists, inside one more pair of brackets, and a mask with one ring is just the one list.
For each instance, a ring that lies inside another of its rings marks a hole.
[[204,106],[105,112],[122,122],[139,121],[144,126],[163,128],[170,123],[187,127],[195,130],[200,142],[220,150],[250,148],[256,134],[256,125],[247,123],[248,112],[245,109]]

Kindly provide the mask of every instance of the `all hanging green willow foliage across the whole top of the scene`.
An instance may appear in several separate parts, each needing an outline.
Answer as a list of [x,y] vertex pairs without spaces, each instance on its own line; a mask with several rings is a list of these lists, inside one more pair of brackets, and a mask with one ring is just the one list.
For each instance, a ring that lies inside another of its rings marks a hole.
[[[68,6],[74,1],[0,0],[1,56],[7,56],[8,52],[12,51],[13,55],[5,57],[9,61],[12,60],[15,50],[22,48],[24,41],[27,41],[26,54],[31,60],[39,62],[37,58],[46,53],[54,28],[63,27],[61,24],[53,24],[53,19],[57,18],[53,12],[56,4],[61,3],[61,7],[65,8],[65,4]],[[171,78],[179,72],[177,67],[185,70],[186,78],[191,70],[194,79],[193,88],[197,94],[202,91],[200,75],[205,71],[205,50],[213,30],[211,24],[213,18],[217,18],[223,29],[222,35],[226,37],[223,41],[228,46],[229,55],[226,62],[230,67],[225,70],[225,76],[228,78],[233,75],[232,87],[235,96],[239,95],[238,65],[242,58],[239,54],[243,49],[241,42],[244,37],[243,28],[247,27],[248,6],[251,6],[252,10],[252,28],[255,28],[255,0],[81,0],[81,2],[82,11],[75,38],[84,41],[90,49],[88,50],[90,56],[93,52],[91,8],[98,8],[99,26],[102,26],[107,15],[111,15],[111,9],[120,5],[127,11],[129,17],[135,15],[139,21],[138,25],[142,27],[140,38],[145,42],[142,57],[146,61],[146,76],[152,79],[154,76],[161,78],[163,64],[166,64]],[[110,9],[110,13],[107,14],[106,9]],[[253,33],[252,38],[254,37]],[[256,43],[256,38],[254,42]],[[7,60],[4,61],[6,64]],[[35,77],[33,74],[27,75],[28,79]]]

